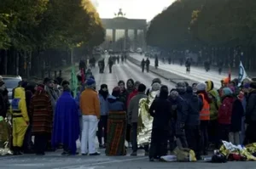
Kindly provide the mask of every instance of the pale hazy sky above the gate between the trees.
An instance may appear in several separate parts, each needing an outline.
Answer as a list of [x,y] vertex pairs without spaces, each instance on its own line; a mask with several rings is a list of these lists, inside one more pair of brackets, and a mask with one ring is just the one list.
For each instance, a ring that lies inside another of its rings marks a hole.
[[168,7],[175,0],[91,0],[101,18],[113,18],[114,13],[123,9],[125,17],[131,19],[152,20],[164,8]]

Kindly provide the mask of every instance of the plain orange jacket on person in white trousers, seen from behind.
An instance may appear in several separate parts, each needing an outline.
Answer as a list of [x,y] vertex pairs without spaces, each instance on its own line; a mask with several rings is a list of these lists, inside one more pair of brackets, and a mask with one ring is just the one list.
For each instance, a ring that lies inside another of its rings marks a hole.
[[80,95],[80,110],[83,115],[96,115],[101,117],[100,100],[98,93],[91,88],[86,88]]

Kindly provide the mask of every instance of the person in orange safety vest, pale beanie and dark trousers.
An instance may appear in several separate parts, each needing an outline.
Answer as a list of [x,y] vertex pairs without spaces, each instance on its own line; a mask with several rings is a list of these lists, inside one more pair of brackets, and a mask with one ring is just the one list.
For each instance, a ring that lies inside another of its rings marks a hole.
[[203,149],[203,155],[207,155],[208,149],[208,127],[210,121],[210,104],[212,100],[208,97],[207,84],[199,83],[196,86],[198,97],[203,103],[203,108],[200,112],[200,127],[201,127],[201,148]]

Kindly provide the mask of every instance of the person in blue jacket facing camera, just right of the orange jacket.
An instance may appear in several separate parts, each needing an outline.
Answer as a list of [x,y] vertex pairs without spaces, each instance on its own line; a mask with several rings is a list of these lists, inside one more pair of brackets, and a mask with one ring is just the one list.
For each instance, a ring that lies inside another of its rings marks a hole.
[[[97,132],[100,148],[106,147],[106,143],[107,143],[107,130],[108,130],[107,127],[108,127],[108,111],[109,111],[108,96],[109,96],[108,85],[102,84],[101,89],[99,90],[99,99],[101,104],[101,119],[98,123],[98,132]],[[104,137],[104,144],[102,144],[102,136]]]

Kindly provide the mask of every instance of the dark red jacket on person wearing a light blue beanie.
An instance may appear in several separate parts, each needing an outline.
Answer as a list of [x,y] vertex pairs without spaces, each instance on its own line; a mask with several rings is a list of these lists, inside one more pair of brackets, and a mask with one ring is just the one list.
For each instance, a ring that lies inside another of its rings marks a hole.
[[233,102],[234,98],[230,96],[224,98],[222,104],[218,109],[219,124],[231,124]]

